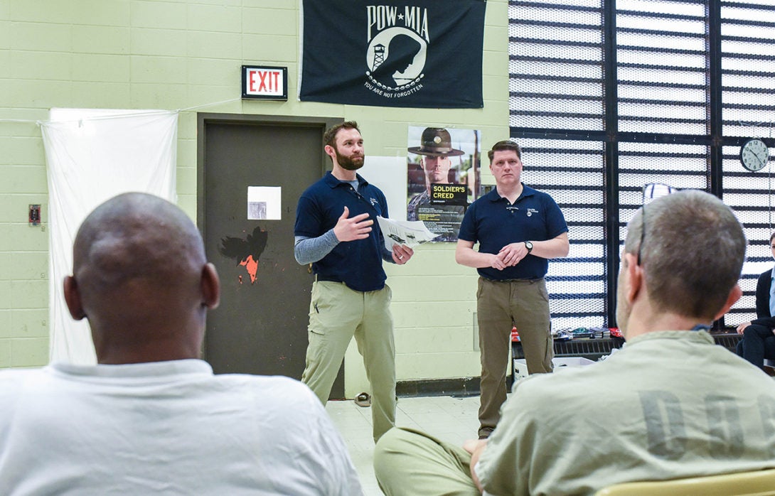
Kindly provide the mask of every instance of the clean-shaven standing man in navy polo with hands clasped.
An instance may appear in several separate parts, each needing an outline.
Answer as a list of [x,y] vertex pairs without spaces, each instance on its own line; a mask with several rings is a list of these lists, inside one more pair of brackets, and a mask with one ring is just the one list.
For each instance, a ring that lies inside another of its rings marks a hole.
[[[481,353],[479,437],[487,438],[506,401],[512,325],[519,330],[530,374],[552,371],[549,258],[566,257],[568,226],[556,202],[519,180],[522,151],[499,141],[487,152],[496,187],[468,208],[460,224],[455,260],[479,273],[477,319]],[[479,243],[479,251],[474,250]]]

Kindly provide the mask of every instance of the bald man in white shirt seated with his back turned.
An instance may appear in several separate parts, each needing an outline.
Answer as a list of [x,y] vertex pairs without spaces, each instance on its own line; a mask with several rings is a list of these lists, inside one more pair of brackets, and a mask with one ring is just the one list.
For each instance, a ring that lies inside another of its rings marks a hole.
[[198,359],[219,278],[180,208],[112,198],[73,255],[64,296],[98,365],[0,371],[2,494],[362,494],[308,387]]

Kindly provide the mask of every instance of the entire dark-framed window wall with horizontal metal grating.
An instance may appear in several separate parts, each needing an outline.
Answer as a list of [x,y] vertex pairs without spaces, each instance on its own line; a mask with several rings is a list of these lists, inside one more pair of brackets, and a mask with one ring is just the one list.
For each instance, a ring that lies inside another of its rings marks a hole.
[[756,277],[773,263],[775,165],[749,173],[738,153],[745,137],[775,146],[773,0],[510,0],[508,12],[523,181],[570,227],[570,257],[549,263],[553,325],[613,323],[613,252],[650,182],[735,209],[751,248],[732,313],[752,317]]

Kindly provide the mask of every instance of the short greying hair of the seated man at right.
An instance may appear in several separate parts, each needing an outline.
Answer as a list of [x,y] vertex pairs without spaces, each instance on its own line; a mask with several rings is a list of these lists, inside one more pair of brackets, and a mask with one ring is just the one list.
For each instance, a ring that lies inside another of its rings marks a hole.
[[704,191],[684,190],[657,198],[629,222],[625,252],[636,254],[639,249],[655,307],[708,321],[739,281],[746,236],[721,200]]

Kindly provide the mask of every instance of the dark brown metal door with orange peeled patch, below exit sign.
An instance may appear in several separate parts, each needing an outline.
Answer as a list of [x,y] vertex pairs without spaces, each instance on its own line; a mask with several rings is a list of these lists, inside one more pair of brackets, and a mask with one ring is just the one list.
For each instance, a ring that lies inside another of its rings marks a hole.
[[[216,373],[301,378],[312,274],[293,255],[296,203],[327,167],[322,135],[333,122],[199,115],[198,221],[222,284],[205,336]],[[250,220],[263,210],[249,215],[249,187],[280,188],[281,219]],[[332,397],[342,396],[340,377]]]

